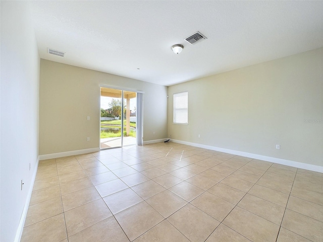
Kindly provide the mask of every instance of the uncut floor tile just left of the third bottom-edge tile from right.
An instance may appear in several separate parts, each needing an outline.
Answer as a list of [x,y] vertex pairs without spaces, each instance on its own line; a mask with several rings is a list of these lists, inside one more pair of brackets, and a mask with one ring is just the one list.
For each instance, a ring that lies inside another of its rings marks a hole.
[[194,199],[191,204],[220,222],[225,219],[235,207],[234,204],[208,192],[203,193],[201,196]]

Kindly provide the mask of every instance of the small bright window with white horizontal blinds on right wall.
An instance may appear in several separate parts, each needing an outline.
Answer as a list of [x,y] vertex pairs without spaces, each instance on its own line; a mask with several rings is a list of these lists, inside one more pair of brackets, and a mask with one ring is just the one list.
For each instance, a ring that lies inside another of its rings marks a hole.
[[174,124],[188,123],[188,92],[174,94],[173,112]]

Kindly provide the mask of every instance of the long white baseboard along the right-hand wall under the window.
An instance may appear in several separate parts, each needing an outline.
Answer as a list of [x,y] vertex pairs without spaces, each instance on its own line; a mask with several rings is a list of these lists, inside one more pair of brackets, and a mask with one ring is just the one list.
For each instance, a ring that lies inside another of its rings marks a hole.
[[202,145],[202,144],[197,144],[197,143],[191,143],[191,142],[181,141],[181,140],[172,139],[171,141],[174,143],[179,143],[179,144],[183,144],[183,145],[190,145],[190,146],[204,148],[204,149],[208,149],[208,150],[215,150],[215,151],[220,151],[220,152],[229,153],[229,154],[233,154],[233,155],[240,155],[240,156],[249,157],[252,159],[264,160],[264,161],[269,161],[269,162],[273,162],[273,163],[277,163],[277,164],[288,165],[288,166],[293,166],[293,167],[297,167],[297,168],[301,168],[301,169],[305,169],[305,170],[312,170],[312,171],[323,173],[323,166],[319,166],[319,165],[311,165],[311,164],[301,163],[301,162],[292,161],[292,160],[285,160],[285,159],[280,159],[280,158],[275,158],[275,157],[270,157],[270,156],[252,154],[252,153],[247,153],[247,152],[243,152],[243,151],[230,150],[230,149],[209,146],[209,145]]

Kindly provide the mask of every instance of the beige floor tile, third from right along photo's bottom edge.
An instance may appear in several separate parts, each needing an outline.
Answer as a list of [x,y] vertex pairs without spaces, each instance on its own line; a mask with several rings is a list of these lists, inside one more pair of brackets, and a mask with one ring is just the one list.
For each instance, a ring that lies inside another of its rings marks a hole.
[[223,223],[251,241],[275,242],[279,232],[278,225],[239,207]]

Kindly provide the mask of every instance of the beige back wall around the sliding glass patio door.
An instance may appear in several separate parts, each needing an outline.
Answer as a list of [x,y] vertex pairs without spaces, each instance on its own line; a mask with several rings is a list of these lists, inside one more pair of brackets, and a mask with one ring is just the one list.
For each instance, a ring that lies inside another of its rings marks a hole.
[[167,87],[41,59],[40,155],[99,147],[100,85],[143,91],[144,141],[167,137]]

